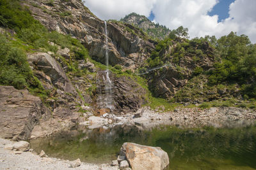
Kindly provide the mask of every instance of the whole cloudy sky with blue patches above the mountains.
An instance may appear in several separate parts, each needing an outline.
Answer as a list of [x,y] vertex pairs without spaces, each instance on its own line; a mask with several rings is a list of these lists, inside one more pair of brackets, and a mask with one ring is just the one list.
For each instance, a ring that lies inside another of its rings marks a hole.
[[189,37],[245,34],[256,43],[256,0],[85,0],[100,19],[125,17],[136,12],[150,20],[177,29],[189,29]]

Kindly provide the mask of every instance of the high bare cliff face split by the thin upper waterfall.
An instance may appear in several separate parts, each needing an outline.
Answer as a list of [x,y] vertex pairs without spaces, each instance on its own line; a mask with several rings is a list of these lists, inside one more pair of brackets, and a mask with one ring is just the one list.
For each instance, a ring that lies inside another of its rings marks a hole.
[[[22,1],[29,6],[33,17],[50,31],[80,39],[89,49],[93,59],[105,63],[104,22],[95,17],[79,0],[61,1]],[[40,8],[38,8],[40,6]],[[60,15],[63,14],[63,15]],[[64,15],[65,14],[65,15]],[[131,30],[132,25],[108,22],[109,64],[122,64],[126,67],[138,67],[154,49],[154,44],[138,29]],[[151,41],[152,42],[152,41]]]

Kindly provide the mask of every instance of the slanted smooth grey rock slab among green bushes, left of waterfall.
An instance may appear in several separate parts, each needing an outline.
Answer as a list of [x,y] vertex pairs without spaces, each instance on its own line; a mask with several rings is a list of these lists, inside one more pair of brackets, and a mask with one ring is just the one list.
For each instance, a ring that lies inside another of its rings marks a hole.
[[37,74],[42,75],[43,78],[39,78],[43,79],[42,82],[45,84],[45,89],[47,89],[46,85],[51,86],[52,83],[54,87],[64,92],[76,94],[76,90],[68,80],[65,71],[51,55],[48,53],[33,53],[28,55],[28,62],[34,69],[37,69]]

